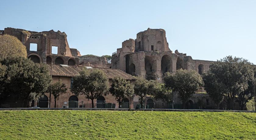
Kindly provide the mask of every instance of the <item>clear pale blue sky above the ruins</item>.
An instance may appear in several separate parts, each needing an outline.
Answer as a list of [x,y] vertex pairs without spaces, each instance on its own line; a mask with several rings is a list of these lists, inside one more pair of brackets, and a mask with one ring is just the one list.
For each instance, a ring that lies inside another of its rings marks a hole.
[[164,29],[172,51],[193,59],[227,55],[256,64],[256,1],[1,1],[0,30],[65,32],[82,55],[111,55],[140,31]]

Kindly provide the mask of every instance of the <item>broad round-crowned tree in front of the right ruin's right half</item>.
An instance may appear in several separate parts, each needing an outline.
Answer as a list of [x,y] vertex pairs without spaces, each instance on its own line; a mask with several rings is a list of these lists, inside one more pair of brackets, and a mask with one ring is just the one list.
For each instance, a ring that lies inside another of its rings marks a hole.
[[166,72],[163,80],[167,88],[179,92],[183,109],[191,95],[204,85],[202,77],[196,71],[186,69],[179,69],[174,74]]

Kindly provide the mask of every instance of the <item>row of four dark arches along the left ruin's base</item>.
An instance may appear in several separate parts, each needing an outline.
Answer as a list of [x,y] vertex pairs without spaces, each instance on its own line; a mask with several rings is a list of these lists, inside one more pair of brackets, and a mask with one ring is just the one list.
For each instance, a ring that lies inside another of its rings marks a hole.
[[[42,60],[40,59],[39,56],[37,56],[36,54],[32,54],[30,56],[28,56],[28,59],[32,60],[34,63],[40,63],[42,62]],[[50,56],[46,57],[46,64],[51,64],[52,63],[52,58]],[[57,57],[55,58],[55,64],[58,65],[63,65],[64,64],[64,60],[61,57]],[[76,61],[73,58],[70,58],[68,60],[68,65],[76,65]]]

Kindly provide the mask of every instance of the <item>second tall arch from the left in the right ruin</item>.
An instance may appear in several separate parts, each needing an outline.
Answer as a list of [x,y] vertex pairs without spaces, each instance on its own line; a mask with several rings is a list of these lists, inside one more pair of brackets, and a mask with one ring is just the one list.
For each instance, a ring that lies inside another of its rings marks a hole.
[[155,72],[156,72],[156,60],[154,57],[145,56],[145,70],[146,70],[146,79],[148,80],[156,80]]

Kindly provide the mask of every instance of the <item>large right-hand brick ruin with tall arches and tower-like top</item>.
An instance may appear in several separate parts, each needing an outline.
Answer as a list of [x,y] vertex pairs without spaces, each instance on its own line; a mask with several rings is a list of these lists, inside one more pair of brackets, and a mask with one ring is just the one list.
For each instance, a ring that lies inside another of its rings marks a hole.
[[125,40],[122,48],[112,54],[112,68],[146,79],[162,80],[165,72],[182,68],[199,74],[209,69],[212,61],[194,60],[187,54],[169,49],[165,30],[150,29],[137,33],[137,38]]

